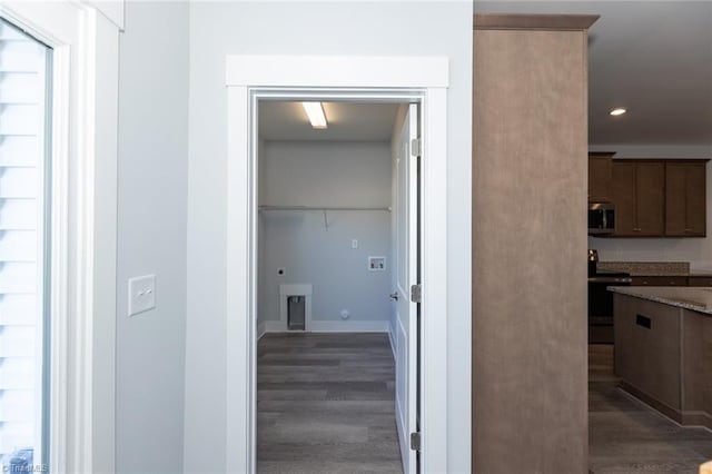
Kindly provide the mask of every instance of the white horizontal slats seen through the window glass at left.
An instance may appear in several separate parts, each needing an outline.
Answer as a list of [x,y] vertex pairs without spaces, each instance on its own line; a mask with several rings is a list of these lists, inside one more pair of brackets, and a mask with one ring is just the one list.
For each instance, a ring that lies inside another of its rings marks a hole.
[[0,21],[0,460],[32,448],[42,406],[47,48]]

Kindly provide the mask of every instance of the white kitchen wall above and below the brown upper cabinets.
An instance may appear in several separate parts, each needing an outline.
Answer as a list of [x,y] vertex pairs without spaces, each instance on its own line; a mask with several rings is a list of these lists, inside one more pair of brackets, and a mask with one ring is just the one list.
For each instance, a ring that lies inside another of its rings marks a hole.
[[[595,145],[591,151],[615,151],[614,158],[712,158],[712,146]],[[600,238],[589,237],[602,261],[690,261],[693,268],[712,269],[712,164],[708,164],[708,237]]]

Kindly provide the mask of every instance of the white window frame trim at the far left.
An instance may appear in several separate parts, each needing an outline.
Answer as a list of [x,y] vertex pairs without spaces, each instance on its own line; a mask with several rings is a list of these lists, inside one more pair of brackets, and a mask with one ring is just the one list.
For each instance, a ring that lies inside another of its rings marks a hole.
[[49,467],[113,472],[119,30],[71,0],[0,16],[52,48]]

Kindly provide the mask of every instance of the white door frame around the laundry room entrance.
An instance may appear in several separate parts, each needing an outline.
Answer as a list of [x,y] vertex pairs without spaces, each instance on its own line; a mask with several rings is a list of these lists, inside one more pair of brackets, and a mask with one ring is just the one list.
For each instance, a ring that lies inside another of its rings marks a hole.
[[256,466],[258,98],[418,98],[422,168],[422,472],[447,472],[447,87],[444,57],[233,56],[226,58],[226,471]]

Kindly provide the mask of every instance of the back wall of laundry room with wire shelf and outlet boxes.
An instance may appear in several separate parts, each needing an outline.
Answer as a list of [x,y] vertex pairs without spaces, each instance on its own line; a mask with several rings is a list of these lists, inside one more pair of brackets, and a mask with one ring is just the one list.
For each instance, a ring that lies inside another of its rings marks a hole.
[[[390,205],[387,142],[266,141],[260,158],[263,205]],[[390,214],[329,210],[326,219],[328,227],[320,210],[261,213],[259,323],[279,319],[279,285],[310,284],[314,322],[337,322],[343,330],[375,329],[379,322],[385,327],[390,312]],[[358,248],[352,248],[352,239]],[[370,271],[369,255],[387,257],[386,270]],[[285,275],[277,274],[279,267],[286,268]],[[349,312],[347,320],[342,320],[342,309]]]

